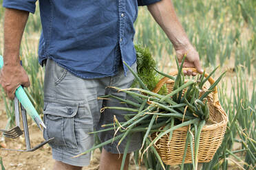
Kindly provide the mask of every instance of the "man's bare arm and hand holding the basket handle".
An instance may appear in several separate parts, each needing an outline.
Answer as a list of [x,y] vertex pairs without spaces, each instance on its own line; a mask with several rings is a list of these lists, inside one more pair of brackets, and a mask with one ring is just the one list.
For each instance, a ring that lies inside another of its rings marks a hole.
[[[178,21],[171,0],[162,0],[148,5],[147,8],[165,34],[167,34],[169,40],[171,40],[179,62],[186,55],[184,67],[193,67],[202,73],[198,52],[189,42],[189,38],[187,38],[180,21]],[[191,70],[184,71],[184,73],[186,75],[195,75]]]

